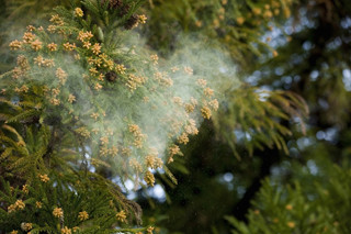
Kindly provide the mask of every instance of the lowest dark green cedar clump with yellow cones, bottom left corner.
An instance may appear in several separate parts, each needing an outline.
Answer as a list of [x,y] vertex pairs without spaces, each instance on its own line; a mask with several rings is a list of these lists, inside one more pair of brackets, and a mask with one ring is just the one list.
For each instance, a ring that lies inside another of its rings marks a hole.
[[[58,180],[54,175],[50,176],[48,182],[35,179],[27,188],[29,192],[10,188],[9,183],[3,185],[8,193],[1,193],[1,198],[7,205],[14,204],[19,200],[23,200],[25,204],[25,208],[18,208],[12,212],[2,211],[0,226],[5,227],[3,231],[19,230],[21,223],[25,222],[32,223],[33,233],[60,233],[64,226],[81,226],[82,233],[113,232],[111,226],[115,222],[113,219],[115,212],[109,207],[109,194],[103,193],[99,187],[84,185],[83,181],[79,181],[79,185],[66,182],[63,185],[61,181],[67,178],[59,178],[63,177],[59,175],[57,177]],[[69,180],[73,182],[73,177],[70,176]],[[55,216],[53,213],[55,208],[63,209],[64,215]],[[79,219],[79,212],[82,211],[88,212],[88,221]]]

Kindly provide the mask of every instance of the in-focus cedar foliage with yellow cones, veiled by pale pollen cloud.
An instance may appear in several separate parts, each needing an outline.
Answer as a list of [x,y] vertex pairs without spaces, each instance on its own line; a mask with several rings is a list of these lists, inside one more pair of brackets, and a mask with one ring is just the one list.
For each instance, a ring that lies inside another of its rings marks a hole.
[[[110,179],[122,183],[133,179],[138,186],[144,177],[154,186],[150,170],[162,167],[162,153],[169,163],[182,155],[174,143],[186,144],[188,135],[197,134],[200,115],[210,119],[218,109],[214,90],[201,79],[204,71],[193,74],[183,63],[172,70],[166,64],[158,67],[157,55],[129,44],[129,38],[137,40],[126,30],[145,21],[135,14],[141,1],[81,3],[84,11],[75,4],[56,8],[47,29],[29,25],[22,41],[10,43],[18,59],[16,67],[0,77],[1,176],[8,187],[23,187],[22,200],[31,205],[14,201],[18,193],[3,193],[0,221],[5,231],[19,230],[24,221],[30,224],[23,224],[22,231],[58,233],[76,226],[80,232],[113,232],[124,226],[117,221],[125,223],[126,218],[138,225],[139,207]],[[163,170],[177,183],[166,166]],[[113,172],[107,176],[107,171]],[[73,179],[77,175],[79,181],[87,181],[84,190]],[[38,178],[44,181],[48,176],[48,187],[39,189]],[[27,187],[35,191],[26,192]],[[92,190],[100,197],[90,198]],[[52,200],[46,201],[50,193]],[[43,212],[50,216],[39,212],[38,219],[31,218],[39,197]],[[78,210],[93,200],[113,203],[97,203],[97,214],[94,207],[86,209],[88,223],[78,222]],[[18,210],[24,212],[10,219]]]

